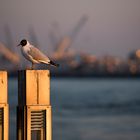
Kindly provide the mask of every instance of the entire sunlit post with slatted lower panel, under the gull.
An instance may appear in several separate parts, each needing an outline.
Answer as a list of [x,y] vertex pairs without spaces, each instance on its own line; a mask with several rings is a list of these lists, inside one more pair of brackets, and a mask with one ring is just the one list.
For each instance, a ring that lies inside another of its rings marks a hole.
[[17,140],[51,140],[49,70],[18,73]]

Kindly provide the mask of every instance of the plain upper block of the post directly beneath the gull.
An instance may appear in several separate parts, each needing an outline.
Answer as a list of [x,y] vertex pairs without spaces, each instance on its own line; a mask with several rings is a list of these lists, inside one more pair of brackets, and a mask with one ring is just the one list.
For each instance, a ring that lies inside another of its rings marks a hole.
[[19,105],[50,105],[49,70],[21,70],[18,84]]

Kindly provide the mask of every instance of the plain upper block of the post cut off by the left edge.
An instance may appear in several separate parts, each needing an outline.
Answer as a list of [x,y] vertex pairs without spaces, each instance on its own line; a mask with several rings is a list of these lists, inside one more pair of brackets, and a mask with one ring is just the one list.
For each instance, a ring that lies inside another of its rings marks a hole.
[[7,72],[0,71],[0,104],[7,104]]

